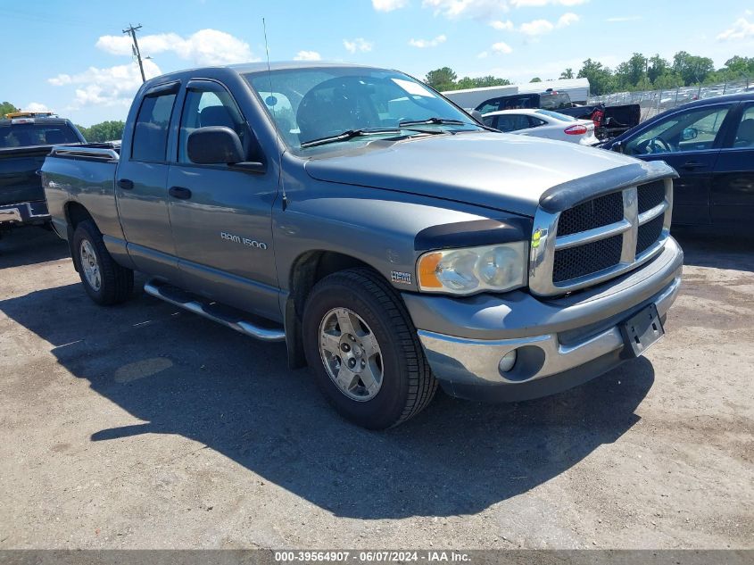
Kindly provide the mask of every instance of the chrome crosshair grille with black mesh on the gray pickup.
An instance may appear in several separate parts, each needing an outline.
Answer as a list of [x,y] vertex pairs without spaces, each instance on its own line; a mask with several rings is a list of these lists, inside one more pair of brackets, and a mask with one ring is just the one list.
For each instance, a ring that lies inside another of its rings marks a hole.
[[665,244],[673,183],[660,179],[534,218],[529,287],[563,295],[638,267]]

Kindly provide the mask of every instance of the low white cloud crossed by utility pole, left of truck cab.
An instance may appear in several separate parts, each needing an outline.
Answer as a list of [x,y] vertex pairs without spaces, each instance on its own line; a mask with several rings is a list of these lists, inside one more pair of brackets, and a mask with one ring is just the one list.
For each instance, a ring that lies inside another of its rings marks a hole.
[[[147,79],[162,74],[160,68],[149,59],[144,62],[144,72]],[[76,86],[73,108],[80,108],[87,104],[128,107],[134,93],[142,84],[141,73],[136,62],[104,69],[89,67],[87,71],[74,75],[60,74],[47,79],[47,82],[57,87]]]

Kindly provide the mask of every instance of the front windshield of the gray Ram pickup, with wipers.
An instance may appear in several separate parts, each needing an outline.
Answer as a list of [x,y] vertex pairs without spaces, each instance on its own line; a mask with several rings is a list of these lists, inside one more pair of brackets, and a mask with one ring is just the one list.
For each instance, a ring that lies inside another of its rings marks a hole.
[[[296,151],[323,145],[311,142],[327,138],[335,138],[328,143],[364,144],[375,138],[480,129],[467,113],[395,71],[318,67],[244,78]],[[343,135],[364,130],[370,135]]]

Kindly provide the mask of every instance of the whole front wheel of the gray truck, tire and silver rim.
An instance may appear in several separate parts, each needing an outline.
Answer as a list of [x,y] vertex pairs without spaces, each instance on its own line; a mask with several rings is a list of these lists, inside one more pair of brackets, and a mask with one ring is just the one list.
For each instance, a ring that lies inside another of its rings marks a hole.
[[408,312],[370,270],[343,270],[317,283],[304,308],[303,341],[327,400],[364,428],[396,426],[435,395]]

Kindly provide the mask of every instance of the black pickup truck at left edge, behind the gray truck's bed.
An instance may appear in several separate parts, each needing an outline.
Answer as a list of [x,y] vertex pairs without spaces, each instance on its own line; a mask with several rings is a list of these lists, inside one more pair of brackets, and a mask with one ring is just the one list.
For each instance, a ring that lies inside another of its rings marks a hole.
[[54,144],[84,143],[69,120],[17,112],[0,120],[0,235],[50,220],[37,171]]

